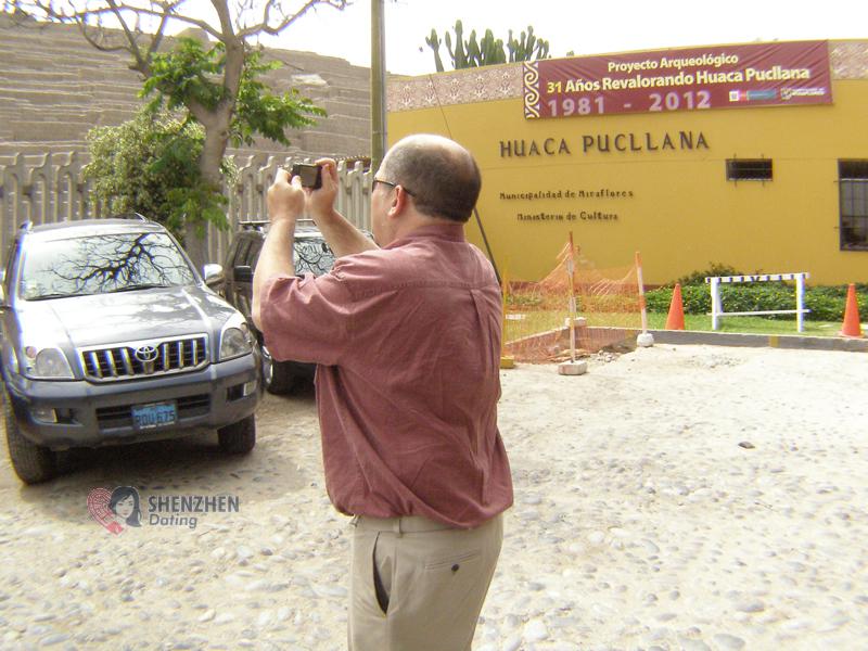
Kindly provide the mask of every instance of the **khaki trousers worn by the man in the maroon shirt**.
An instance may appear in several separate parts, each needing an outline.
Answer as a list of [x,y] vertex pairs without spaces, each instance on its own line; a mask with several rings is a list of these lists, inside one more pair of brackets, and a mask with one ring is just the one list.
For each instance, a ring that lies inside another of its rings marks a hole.
[[419,516],[354,519],[349,651],[469,651],[503,540]]

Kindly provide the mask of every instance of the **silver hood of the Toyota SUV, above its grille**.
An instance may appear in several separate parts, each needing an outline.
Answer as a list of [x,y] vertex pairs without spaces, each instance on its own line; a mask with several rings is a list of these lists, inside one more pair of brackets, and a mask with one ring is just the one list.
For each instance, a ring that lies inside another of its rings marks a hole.
[[29,302],[18,310],[25,332],[53,334],[58,343],[65,339],[76,348],[213,333],[233,314],[197,285]]

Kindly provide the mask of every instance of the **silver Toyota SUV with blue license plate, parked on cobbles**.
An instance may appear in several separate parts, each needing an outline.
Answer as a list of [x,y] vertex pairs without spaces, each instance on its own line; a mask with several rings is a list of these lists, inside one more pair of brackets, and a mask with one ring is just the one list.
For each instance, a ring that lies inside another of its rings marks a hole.
[[0,312],[7,439],[22,481],[52,477],[56,451],[74,447],[215,429],[228,452],[254,447],[255,339],[161,225],[132,215],[23,226]]

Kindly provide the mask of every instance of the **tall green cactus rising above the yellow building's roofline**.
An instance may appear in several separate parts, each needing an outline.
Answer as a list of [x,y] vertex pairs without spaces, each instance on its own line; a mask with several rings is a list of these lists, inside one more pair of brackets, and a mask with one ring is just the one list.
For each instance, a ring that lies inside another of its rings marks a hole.
[[[455,69],[549,58],[549,41],[537,38],[531,26],[527,27],[527,31],[522,31],[519,38],[515,38],[510,29],[506,48],[503,39],[495,38],[490,29],[486,29],[480,40],[476,38],[476,30],[473,29],[470,37],[464,40],[464,26],[461,21],[455,22],[455,38],[446,31],[444,40]],[[434,66],[438,73],[445,69],[441,58],[441,44],[444,40],[441,40],[436,29],[432,29],[431,36],[425,38],[425,44],[434,52]],[[454,40],[455,47],[452,47]]]

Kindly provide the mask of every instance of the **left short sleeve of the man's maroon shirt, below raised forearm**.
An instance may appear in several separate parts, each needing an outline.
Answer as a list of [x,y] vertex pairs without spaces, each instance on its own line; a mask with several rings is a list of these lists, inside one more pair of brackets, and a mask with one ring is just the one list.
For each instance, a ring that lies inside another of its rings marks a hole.
[[340,362],[353,302],[337,277],[275,276],[266,282],[259,301],[263,337],[275,359]]

